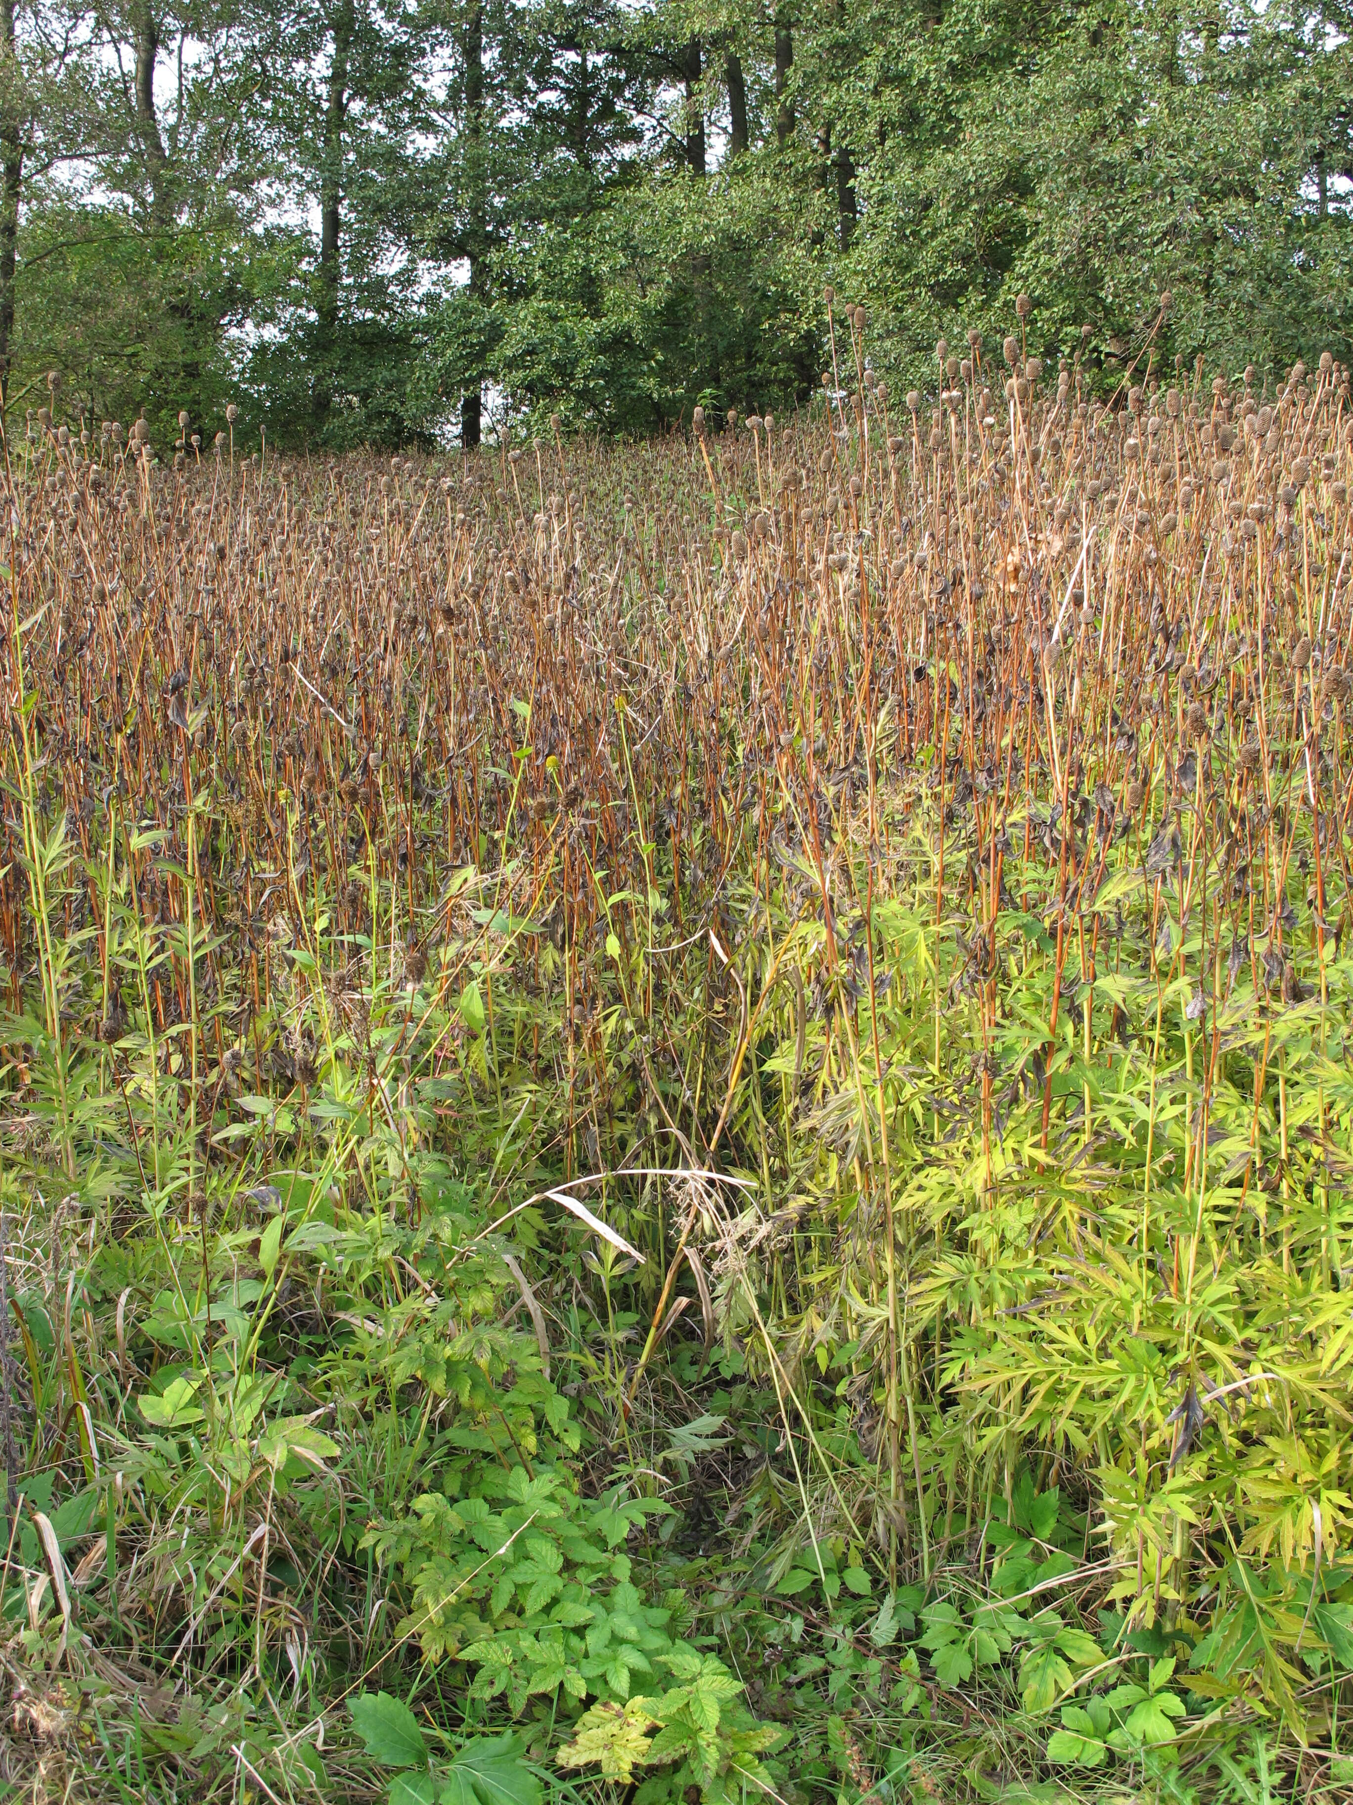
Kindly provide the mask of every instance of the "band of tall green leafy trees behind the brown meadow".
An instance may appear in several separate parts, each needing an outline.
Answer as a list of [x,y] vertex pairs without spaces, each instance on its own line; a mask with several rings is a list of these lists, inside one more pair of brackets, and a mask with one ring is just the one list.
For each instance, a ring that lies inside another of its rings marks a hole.
[[[272,444],[783,406],[1007,330],[1109,386],[1349,356],[1349,9],[1274,0],[0,5],[0,375]],[[933,386],[933,383],[931,383]],[[485,412],[487,410],[487,412]]]

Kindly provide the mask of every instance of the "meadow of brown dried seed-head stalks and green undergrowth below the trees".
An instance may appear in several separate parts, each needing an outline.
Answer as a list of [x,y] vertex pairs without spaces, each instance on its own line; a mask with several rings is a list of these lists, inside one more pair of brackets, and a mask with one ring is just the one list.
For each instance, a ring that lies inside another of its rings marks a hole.
[[1026,314],[11,424],[11,1796],[1349,1796],[1349,375]]

